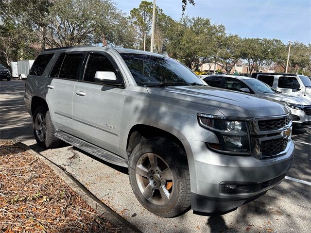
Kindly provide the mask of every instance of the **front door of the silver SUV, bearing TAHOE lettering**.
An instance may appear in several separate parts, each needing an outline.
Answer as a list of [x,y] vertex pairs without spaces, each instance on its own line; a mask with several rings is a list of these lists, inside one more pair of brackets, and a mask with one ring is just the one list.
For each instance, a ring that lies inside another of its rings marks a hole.
[[90,52],[82,81],[74,88],[73,127],[75,135],[119,153],[121,117],[125,85],[120,87],[95,83],[96,71],[111,71],[122,79],[119,69],[106,53]]

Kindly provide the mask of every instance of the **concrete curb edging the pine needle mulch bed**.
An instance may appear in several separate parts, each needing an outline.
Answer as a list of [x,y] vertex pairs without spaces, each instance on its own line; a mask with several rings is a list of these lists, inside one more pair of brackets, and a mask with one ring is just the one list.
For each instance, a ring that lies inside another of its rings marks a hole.
[[96,211],[96,213],[107,219],[115,228],[117,228],[121,232],[124,233],[141,232],[130,222],[128,222],[123,217],[114,212],[112,209],[110,209],[101,200],[96,198],[89,190],[86,189],[85,186],[83,186],[82,183],[76,180],[70,173],[54,164],[51,160],[44,157],[42,154],[36,152],[35,150],[30,149],[27,145],[21,142],[17,142],[15,140],[1,139],[1,141],[16,142],[16,146],[21,147],[23,150],[27,151],[35,158],[41,159],[46,165],[50,166],[53,169],[53,171],[70,186],[70,188],[72,188],[83,200],[85,200],[87,204],[89,204],[89,206],[91,206]]

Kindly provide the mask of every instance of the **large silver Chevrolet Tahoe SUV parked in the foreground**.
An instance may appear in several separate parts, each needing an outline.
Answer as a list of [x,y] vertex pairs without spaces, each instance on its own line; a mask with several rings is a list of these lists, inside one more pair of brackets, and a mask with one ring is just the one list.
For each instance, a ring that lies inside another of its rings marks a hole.
[[190,206],[236,209],[280,183],[293,163],[286,104],[209,87],[160,54],[45,50],[24,100],[40,146],[65,141],[128,167],[138,201],[162,217]]

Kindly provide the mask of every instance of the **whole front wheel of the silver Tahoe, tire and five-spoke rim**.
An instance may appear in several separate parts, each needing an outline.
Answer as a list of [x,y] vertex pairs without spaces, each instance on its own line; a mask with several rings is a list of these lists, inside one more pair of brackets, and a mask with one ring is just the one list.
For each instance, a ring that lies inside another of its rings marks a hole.
[[140,204],[157,216],[174,217],[190,207],[186,154],[166,138],[150,138],[135,147],[129,178]]

